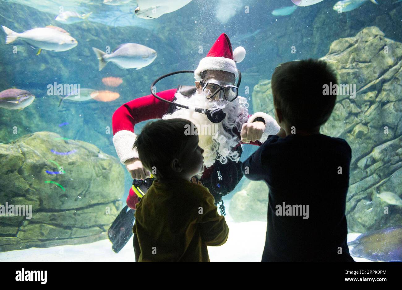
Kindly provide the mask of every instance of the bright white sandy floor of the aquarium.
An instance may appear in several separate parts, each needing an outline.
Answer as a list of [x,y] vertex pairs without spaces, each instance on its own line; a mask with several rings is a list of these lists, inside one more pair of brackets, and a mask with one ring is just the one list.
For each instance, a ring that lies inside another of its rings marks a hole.
[[[228,241],[220,247],[208,247],[211,262],[259,262],[264,249],[267,223],[251,221],[236,223],[230,216],[229,202],[225,202],[226,222],[230,232]],[[348,242],[360,234],[348,234]],[[30,248],[0,253],[0,262],[133,262],[133,239],[119,252],[112,250],[109,240],[82,245],[51,248]],[[351,247],[349,247],[349,250]],[[371,262],[363,258],[357,262]]]

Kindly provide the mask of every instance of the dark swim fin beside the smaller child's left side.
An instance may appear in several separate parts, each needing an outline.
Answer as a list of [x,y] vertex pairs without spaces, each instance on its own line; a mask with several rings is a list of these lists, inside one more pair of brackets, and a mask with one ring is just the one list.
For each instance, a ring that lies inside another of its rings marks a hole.
[[134,212],[135,210],[126,205],[107,231],[109,241],[112,242],[112,249],[115,253],[119,253],[133,235]]

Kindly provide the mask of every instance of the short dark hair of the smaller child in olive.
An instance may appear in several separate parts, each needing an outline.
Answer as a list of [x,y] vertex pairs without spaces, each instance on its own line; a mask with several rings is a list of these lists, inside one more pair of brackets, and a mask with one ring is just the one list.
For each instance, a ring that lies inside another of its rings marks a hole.
[[[191,121],[182,118],[148,122],[135,139],[139,160],[156,178],[170,170],[170,162],[179,158],[191,135],[185,135],[185,125]],[[153,169],[156,169],[155,174]]]

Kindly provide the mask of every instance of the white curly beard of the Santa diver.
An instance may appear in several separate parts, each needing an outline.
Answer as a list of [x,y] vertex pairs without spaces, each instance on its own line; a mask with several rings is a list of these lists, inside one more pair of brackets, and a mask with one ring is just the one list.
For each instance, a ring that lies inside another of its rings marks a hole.
[[[233,161],[238,161],[240,156],[234,147],[238,145],[239,138],[236,135],[236,130],[240,132],[242,125],[248,120],[248,103],[247,99],[238,96],[233,102],[225,100],[207,100],[204,93],[198,90],[190,97],[185,97],[180,93],[174,95],[176,97],[175,103],[189,106],[190,109],[176,107],[177,110],[172,114],[164,114],[162,119],[183,118],[191,121],[197,128],[199,137],[199,146],[204,149],[203,157],[204,164],[210,167],[219,160],[222,164],[230,158]],[[218,124],[212,123],[206,114],[201,114],[194,111],[194,108],[207,108],[212,112],[222,108],[226,113],[224,120]],[[203,126],[207,125],[207,126]],[[214,134],[203,134],[203,128],[213,128],[211,132]],[[225,129],[229,131],[225,131]]]

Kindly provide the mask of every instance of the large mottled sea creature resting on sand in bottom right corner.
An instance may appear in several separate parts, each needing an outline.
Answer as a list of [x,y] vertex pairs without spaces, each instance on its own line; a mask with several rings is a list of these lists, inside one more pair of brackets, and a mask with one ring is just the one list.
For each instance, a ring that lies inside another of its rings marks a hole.
[[402,262],[402,227],[364,233],[348,243],[351,255],[372,261]]

